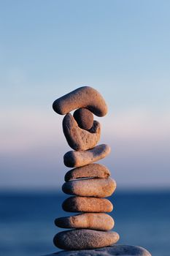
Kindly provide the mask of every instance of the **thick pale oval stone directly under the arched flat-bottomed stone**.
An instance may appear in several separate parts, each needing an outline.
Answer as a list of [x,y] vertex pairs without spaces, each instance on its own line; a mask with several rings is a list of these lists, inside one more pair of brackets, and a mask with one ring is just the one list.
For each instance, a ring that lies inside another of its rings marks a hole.
[[86,178],[65,182],[62,189],[69,195],[109,197],[116,189],[116,182],[112,178]]

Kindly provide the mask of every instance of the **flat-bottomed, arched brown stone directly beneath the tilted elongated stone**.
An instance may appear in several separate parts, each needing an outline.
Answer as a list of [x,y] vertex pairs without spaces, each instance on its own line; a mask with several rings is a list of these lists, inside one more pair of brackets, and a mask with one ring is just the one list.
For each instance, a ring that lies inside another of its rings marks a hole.
[[65,177],[65,181],[71,181],[79,178],[108,178],[110,176],[109,169],[104,165],[90,164],[69,170]]

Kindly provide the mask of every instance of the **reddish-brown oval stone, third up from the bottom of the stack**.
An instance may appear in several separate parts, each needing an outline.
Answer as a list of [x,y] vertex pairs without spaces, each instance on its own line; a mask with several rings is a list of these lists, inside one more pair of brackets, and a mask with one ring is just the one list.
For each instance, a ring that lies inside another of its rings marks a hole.
[[111,212],[112,203],[106,198],[69,197],[63,201],[63,211],[70,212]]

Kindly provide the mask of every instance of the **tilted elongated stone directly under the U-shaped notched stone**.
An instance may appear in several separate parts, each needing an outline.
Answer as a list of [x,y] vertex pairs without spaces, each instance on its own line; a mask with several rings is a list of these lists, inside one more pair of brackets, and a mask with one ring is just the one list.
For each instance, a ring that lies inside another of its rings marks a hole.
[[64,165],[67,167],[80,167],[96,162],[110,153],[110,147],[106,144],[98,145],[86,151],[69,151],[63,156]]

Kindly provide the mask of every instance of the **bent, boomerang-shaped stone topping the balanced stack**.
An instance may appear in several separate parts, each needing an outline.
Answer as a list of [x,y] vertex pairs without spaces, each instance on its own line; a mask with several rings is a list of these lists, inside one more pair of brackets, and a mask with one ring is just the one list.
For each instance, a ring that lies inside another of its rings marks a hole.
[[53,110],[60,115],[65,115],[77,108],[88,108],[96,116],[107,114],[104,98],[90,86],[82,86],[53,102]]

